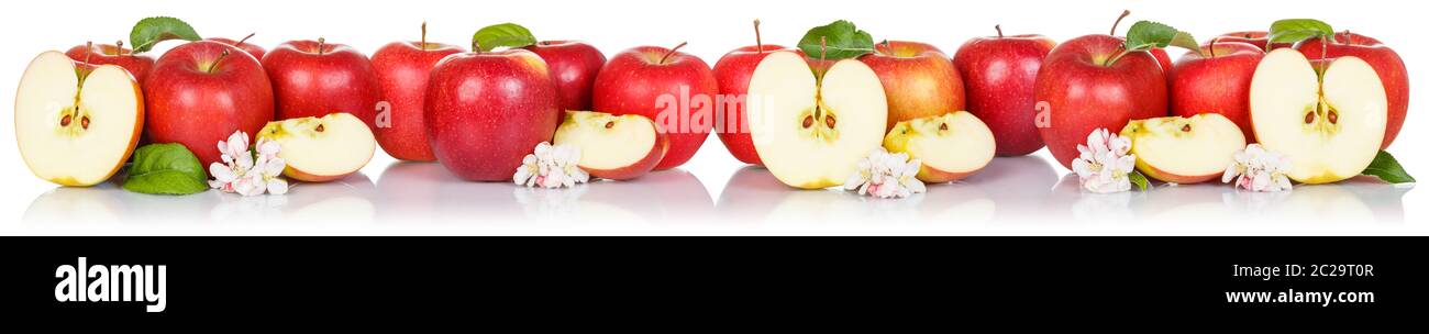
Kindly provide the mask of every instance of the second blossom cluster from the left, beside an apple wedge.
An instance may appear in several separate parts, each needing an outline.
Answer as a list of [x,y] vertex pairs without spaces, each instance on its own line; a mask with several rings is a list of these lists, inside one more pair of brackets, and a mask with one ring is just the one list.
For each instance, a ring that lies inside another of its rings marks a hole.
[[542,141],[536,151],[522,158],[512,181],[526,187],[560,188],[590,181],[590,174],[580,170],[580,148],[574,146],[552,146]]

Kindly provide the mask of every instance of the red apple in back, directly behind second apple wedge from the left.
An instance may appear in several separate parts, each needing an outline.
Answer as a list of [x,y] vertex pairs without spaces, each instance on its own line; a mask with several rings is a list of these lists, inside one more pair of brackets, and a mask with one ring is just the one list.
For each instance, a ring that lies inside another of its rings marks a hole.
[[[574,40],[547,40],[524,47],[546,60],[560,91],[562,110],[590,110],[590,88],[606,64],[599,49]],[[566,113],[562,113],[564,117]]]

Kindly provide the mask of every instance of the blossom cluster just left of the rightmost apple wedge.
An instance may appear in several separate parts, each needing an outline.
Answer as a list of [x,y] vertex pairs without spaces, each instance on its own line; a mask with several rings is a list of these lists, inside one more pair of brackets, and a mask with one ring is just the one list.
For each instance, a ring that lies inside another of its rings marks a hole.
[[1127,154],[1132,150],[1130,138],[1097,128],[1076,150],[1080,156],[1072,160],[1072,171],[1080,178],[1082,190],[1099,194],[1132,190],[1130,174],[1136,168],[1136,154]]

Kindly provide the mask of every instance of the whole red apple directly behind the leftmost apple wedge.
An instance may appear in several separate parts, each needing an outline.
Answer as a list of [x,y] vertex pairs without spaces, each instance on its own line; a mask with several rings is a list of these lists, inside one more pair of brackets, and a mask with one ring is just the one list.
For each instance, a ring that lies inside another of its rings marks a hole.
[[382,90],[372,61],[356,49],[294,40],[263,56],[263,69],[273,81],[279,120],[349,113],[377,128]]

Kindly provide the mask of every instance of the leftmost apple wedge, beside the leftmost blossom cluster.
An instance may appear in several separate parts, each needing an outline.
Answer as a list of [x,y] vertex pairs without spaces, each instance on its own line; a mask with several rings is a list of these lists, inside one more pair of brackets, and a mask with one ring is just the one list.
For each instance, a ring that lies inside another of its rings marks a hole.
[[367,124],[349,113],[270,121],[259,130],[283,147],[277,153],[287,161],[283,176],[299,181],[323,183],[357,173],[377,148]]

